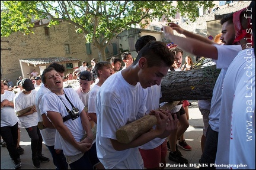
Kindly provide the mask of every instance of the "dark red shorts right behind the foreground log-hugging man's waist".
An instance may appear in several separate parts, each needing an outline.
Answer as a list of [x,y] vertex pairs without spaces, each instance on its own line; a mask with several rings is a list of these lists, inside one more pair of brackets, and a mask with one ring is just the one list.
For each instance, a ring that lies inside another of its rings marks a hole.
[[158,168],[161,160],[165,160],[167,156],[167,140],[154,149],[139,149],[145,168]]

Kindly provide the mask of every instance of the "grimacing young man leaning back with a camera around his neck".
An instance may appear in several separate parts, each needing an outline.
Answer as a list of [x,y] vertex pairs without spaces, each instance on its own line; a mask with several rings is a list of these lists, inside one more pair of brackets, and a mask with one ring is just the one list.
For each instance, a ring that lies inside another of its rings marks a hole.
[[[41,77],[46,93],[41,104],[43,113],[53,123],[57,132],[55,149],[62,149],[71,169],[93,169],[97,160],[89,159],[93,141],[91,124],[84,110],[84,103],[71,88],[63,88],[62,77],[52,67],[44,69]],[[84,137],[85,132],[87,138]],[[94,162],[93,162],[94,161]]]

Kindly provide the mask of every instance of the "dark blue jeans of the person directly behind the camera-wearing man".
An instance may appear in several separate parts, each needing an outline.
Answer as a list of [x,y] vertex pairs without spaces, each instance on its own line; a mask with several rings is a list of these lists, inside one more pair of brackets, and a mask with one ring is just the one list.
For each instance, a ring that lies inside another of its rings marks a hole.
[[[47,146],[47,145],[46,145]],[[68,163],[66,162],[66,157],[62,150],[55,149],[55,146],[47,146],[52,157],[53,164],[56,166],[56,169],[68,169]]]

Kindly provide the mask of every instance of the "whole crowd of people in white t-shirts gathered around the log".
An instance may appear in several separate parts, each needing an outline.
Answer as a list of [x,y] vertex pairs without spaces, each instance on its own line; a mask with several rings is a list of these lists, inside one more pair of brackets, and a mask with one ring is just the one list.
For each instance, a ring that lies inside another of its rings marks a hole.
[[[188,100],[159,109],[165,104],[159,103],[162,78],[169,71],[194,69],[190,55],[182,63],[186,51],[212,58],[221,69],[212,99],[199,100],[204,123],[199,163],[208,165],[200,169],[238,169],[239,164],[255,169],[255,24],[244,16],[255,16],[255,1],[220,20],[221,44],[171,22],[162,31],[172,43],[144,35],[136,41],[135,59],[129,52],[110,61],[92,59],[91,68],[84,61],[66,75],[65,66],[52,63],[42,74],[20,76],[16,84],[1,80],[1,146],[5,142],[14,168],[21,167],[21,127],[31,138],[34,168],[50,161],[43,156],[43,142],[56,169],[164,169],[159,165],[166,164],[168,149],[169,160],[188,164],[178,149],[193,149],[184,136]],[[71,80],[76,86],[65,87]],[[151,130],[129,143],[117,139],[118,129],[147,115],[156,117]]]

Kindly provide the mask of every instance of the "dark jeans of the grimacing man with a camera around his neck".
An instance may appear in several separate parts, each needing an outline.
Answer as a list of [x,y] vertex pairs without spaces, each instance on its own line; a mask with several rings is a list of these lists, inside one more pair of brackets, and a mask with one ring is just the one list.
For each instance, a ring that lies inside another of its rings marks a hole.
[[82,158],[69,164],[69,166],[71,169],[93,169],[94,165],[98,164],[98,162],[100,162],[100,160],[97,156],[96,143],[94,143],[91,149],[84,153]]

